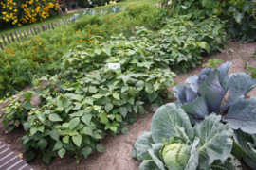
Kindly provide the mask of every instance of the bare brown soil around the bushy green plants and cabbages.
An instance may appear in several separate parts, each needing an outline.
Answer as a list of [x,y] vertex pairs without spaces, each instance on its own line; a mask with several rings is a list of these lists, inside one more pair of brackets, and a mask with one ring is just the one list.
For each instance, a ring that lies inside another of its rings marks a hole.
[[[225,53],[212,55],[209,59],[223,59],[224,62],[232,61],[229,74],[245,72],[247,71],[245,69],[246,62],[250,66],[256,67],[256,59],[253,58],[255,50],[256,43],[239,44],[238,42],[229,42],[226,46]],[[177,84],[183,84],[187,77],[198,75],[201,69],[201,65],[198,65],[186,74],[179,74],[177,78],[174,78],[174,81]],[[172,88],[170,87],[169,90],[172,91]],[[248,93],[248,96],[256,96],[256,89]],[[0,109],[3,107],[3,105],[0,105]],[[70,158],[68,155],[64,155],[64,159],[60,161],[54,158],[49,166],[40,158],[30,161],[28,164],[34,170],[136,170],[140,161],[131,158],[132,148],[141,134],[150,131],[153,115],[154,112],[147,109],[146,114],[138,116],[137,123],[130,126],[130,134],[128,135],[120,134],[117,137],[106,136],[102,141],[106,151],[104,153],[94,153],[87,159],[83,158],[79,165],[76,164],[74,158]],[[8,132],[8,129],[4,128],[3,124],[0,124],[0,141],[7,144],[17,154],[25,154],[26,150],[23,148],[20,140],[24,133],[24,130]],[[11,139],[10,144],[8,144],[9,139]],[[243,170],[250,169],[244,163],[242,167]]]

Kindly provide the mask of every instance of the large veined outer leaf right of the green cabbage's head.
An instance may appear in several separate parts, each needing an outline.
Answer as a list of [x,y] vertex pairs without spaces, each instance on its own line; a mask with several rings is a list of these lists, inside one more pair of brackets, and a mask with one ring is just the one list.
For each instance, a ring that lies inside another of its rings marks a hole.
[[224,163],[229,157],[233,144],[230,139],[233,130],[229,124],[223,125],[220,121],[221,116],[211,113],[200,124],[193,127],[195,136],[200,139],[200,143],[196,147],[200,155],[200,169],[210,169],[209,164],[213,161],[221,160]]

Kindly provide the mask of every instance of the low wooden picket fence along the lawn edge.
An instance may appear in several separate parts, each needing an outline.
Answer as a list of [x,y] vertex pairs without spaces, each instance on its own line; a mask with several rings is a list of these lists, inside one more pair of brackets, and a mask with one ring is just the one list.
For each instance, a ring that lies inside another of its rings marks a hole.
[[[22,41],[28,41],[28,37],[30,35],[38,35],[41,31],[46,31],[48,32],[48,30],[50,29],[54,29],[54,27],[56,26],[61,26],[63,24],[67,24],[69,22],[69,19],[60,19],[58,21],[56,21],[55,23],[48,23],[46,25],[41,25],[40,26],[32,26],[27,28],[27,30],[18,30],[17,32],[10,32],[9,34],[6,35],[1,35],[3,43],[0,42],[0,48],[2,50],[4,50],[5,46],[8,45],[8,43],[12,43],[12,42],[22,42]],[[22,35],[23,33],[23,35]],[[1,39],[0,37],[0,39]]]

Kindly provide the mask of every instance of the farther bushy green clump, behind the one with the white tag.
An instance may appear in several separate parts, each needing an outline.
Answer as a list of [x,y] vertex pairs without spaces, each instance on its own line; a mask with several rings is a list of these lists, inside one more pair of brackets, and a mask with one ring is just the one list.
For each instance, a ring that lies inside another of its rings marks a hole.
[[227,42],[224,24],[214,16],[200,24],[190,21],[188,15],[178,16],[167,21],[155,41],[174,59],[171,65],[175,72],[186,73],[202,59],[204,51],[222,51],[221,46]]

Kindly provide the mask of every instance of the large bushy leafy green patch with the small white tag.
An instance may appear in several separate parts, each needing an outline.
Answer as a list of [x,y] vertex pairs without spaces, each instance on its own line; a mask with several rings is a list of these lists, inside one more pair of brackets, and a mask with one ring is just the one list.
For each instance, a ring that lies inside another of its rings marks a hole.
[[[25,108],[27,161],[38,154],[49,164],[51,157],[65,153],[86,158],[92,151],[102,152],[99,141],[105,134],[129,133],[127,126],[145,113],[145,102],[153,109],[171,96],[167,87],[175,74],[168,69],[170,60],[153,59],[151,44],[143,46],[147,37],[141,37],[126,40],[119,35],[98,44],[95,36],[91,48],[78,45],[64,54],[59,75],[34,76],[34,93],[42,103]],[[108,69],[108,62],[121,63],[121,69]],[[49,84],[42,87],[41,80]],[[25,95],[27,101],[30,96]]]

